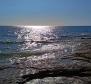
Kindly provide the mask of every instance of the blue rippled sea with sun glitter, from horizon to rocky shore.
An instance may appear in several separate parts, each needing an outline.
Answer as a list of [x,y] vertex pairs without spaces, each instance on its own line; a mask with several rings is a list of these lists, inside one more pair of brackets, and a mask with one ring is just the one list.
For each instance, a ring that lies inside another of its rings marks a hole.
[[59,50],[58,55],[73,53],[84,39],[91,39],[91,26],[0,26],[0,72],[24,57],[50,59]]

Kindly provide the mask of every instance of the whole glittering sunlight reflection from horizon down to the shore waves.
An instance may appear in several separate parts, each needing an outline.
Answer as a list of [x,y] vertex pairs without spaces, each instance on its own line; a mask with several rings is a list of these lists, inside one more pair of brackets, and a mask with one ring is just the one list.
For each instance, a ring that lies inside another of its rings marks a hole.
[[[59,37],[54,33],[54,30],[55,27],[51,26],[21,26],[21,29],[16,31],[15,34],[18,41],[24,41],[24,43],[19,44],[18,50],[28,53],[27,55],[23,54],[22,57],[27,57],[27,59],[32,58],[32,60],[55,59],[54,52],[59,51],[58,55],[60,56],[74,52],[78,43],[76,41],[72,42],[72,39],[56,41]],[[22,59],[21,57],[18,58],[11,59],[11,61],[19,62]]]

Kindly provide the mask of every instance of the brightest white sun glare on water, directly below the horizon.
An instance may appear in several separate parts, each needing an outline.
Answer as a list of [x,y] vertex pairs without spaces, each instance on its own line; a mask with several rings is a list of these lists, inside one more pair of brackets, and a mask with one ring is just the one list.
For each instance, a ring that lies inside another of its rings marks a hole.
[[48,40],[52,36],[52,26],[28,26],[18,25],[20,33],[18,33],[19,39],[25,39],[33,41]]

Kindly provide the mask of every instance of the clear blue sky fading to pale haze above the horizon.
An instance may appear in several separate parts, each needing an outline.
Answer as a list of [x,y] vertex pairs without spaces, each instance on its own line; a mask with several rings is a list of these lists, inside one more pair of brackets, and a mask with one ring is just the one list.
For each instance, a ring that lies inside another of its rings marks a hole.
[[91,26],[91,0],[0,0],[0,25]]

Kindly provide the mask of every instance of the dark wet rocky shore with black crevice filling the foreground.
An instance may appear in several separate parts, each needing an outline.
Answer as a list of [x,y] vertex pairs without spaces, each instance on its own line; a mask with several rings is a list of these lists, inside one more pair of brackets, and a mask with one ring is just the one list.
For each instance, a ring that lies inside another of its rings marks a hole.
[[53,49],[12,58],[0,66],[0,84],[91,84],[91,40],[82,39],[71,52]]

